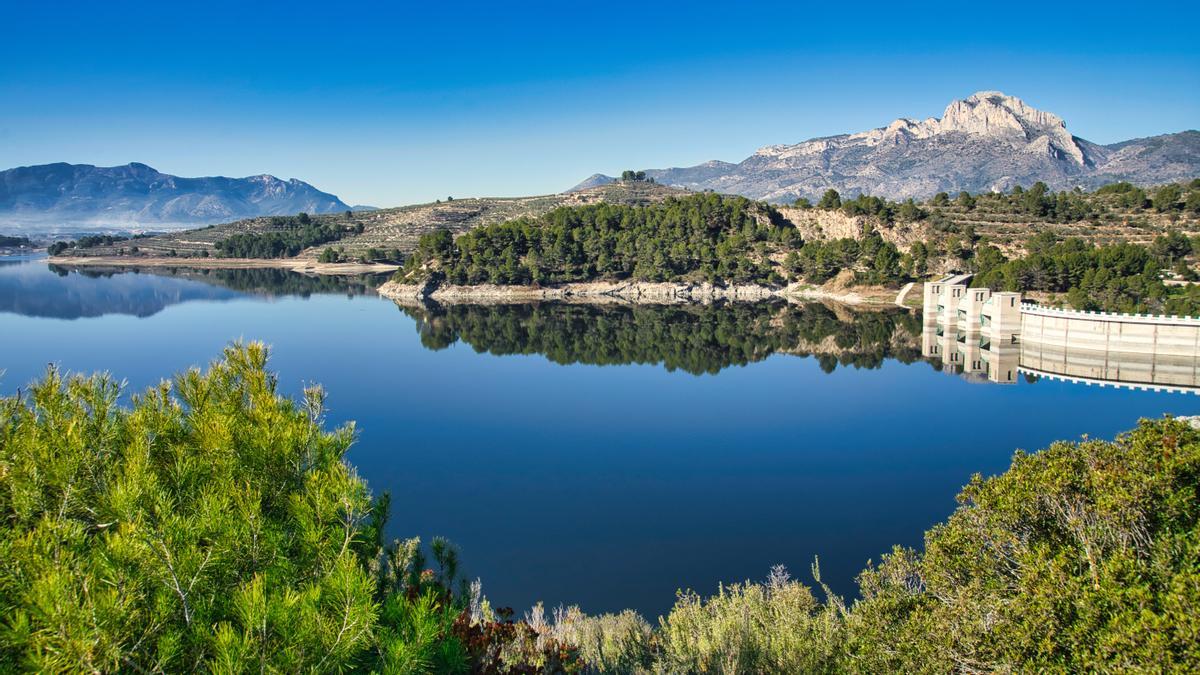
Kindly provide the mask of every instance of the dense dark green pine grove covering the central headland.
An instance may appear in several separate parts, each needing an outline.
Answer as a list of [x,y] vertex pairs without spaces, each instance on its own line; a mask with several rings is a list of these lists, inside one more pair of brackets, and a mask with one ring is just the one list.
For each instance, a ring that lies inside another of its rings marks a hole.
[[644,207],[564,207],[536,219],[421,237],[401,279],[436,262],[451,283],[641,281],[784,281],[773,251],[800,244],[767,204],[715,193]]

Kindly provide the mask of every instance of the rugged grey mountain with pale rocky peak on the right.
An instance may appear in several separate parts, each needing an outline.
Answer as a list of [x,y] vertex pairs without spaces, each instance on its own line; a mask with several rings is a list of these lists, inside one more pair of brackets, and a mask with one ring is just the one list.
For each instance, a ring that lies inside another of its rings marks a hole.
[[[1200,132],[1099,145],[1067,131],[1062,118],[1015,96],[979,91],[941,118],[892,124],[791,145],[767,145],[742,162],[646,169],[656,181],[755,199],[791,202],[828,189],[892,199],[937,192],[1003,191],[1038,180],[1052,189],[1141,185],[1200,177]],[[613,180],[594,174],[575,190]]]

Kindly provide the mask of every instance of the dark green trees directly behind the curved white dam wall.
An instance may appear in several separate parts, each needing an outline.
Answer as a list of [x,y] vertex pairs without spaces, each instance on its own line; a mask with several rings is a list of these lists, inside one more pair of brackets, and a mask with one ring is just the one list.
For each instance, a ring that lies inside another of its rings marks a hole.
[[1121,312],[1162,311],[1200,313],[1195,293],[1172,293],[1164,270],[1180,268],[1193,252],[1193,241],[1176,232],[1156,238],[1151,246],[1120,243],[1096,246],[1080,238],[1060,239],[1050,232],[1033,237],[1027,253],[1007,259],[998,249],[980,246],[974,255],[974,286],[1000,291],[1066,293],[1079,310]]

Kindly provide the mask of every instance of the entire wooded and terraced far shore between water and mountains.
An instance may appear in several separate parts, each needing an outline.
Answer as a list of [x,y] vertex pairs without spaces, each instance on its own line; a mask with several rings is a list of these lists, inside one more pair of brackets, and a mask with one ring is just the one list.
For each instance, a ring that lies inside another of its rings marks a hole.
[[[526,204],[517,217],[491,220],[480,204],[449,199],[426,205],[421,223],[392,228],[408,239],[370,239],[376,245],[365,250],[355,241],[383,227],[368,219],[386,216],[276,216],[166,239],[97,237],[56,244],[52,253],[106,264],[324,274],[402,264],[394,285],[454,287],[464,295],[472,287],[594,282],[778,291],[836,281],[846,293],[851,286],[895,288],[953,270],[974,273],[977,285],[1076,309],[1200,311],[1200,291],[1192,285],[1200,279],[1200,179],[1150,190],[1118,183],[1093,192],[1051,192],[1036,184],[902,203],[842,198],[830,190],[816,204],[790,205],[638,183],[636,175],[618,181],[626,192],[611,199],[598,192],[566,205],[544,201]],[[458,220],[439,220],[448,214]],[[198,249],[163,250],[202,239]]]

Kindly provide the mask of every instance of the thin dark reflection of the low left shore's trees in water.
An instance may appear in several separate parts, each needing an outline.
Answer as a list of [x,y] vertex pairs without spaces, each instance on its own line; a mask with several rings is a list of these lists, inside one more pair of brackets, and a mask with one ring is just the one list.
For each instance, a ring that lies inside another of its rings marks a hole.
[[89,279],[108,279],[119,274],[148,274],[202,281],[245,293],[308,297],[322,293],[372,295],[386,275],[310,275],[278,268],[194,269],[194,268],[122,268],[49,265],[59,276],[79,274]]

